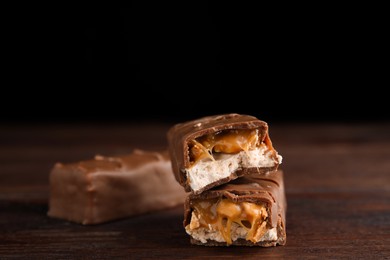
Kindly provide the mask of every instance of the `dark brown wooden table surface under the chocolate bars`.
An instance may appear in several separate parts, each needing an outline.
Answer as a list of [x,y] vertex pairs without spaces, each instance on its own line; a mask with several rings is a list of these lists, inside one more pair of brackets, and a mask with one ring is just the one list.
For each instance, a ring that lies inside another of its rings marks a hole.
[[176,207],[95,226],[47,217],[55,162],[166,147],[170,125],[1,125],[0,259],[390,259],[390,122],[269,124],[287,244],[193,246]]

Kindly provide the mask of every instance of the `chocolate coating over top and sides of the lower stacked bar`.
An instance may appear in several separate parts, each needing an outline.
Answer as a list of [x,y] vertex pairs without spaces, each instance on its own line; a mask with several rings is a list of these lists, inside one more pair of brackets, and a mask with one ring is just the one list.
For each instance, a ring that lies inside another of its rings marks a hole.
[[185,202],[184,227],[191,222],[192,202],[198,199],[227,198],[234,203],[265,203],[268,211],[268,224],[276,227],[278,216],[283,223],[286,218],[286,197],[284,191],[283,171],[269,172],[267,175],[250,175],[233,180],[227,184],[214,187],[195,195],[191,193]]

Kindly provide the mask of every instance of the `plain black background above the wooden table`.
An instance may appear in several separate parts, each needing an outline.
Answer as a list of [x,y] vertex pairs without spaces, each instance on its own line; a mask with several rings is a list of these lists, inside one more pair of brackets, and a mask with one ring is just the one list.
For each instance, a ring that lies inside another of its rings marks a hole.
[[390,119],[376,9],[47,8],[9,10],[3,123]]

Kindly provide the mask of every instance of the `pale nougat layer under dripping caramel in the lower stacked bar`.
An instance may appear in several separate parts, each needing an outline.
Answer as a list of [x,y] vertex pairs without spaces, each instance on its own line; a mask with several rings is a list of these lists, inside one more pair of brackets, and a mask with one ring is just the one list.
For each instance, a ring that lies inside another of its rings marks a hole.
[[[186,232],[190,236],[192,236],[194,239],[201,241],[202,243],[206,243],[207,240],[213,240],[217,242],[226,242],[226,240],[223,238],[221,232],[218,230],[208,229],[208,228],[196,228],[191,229],[190,225],[186,226]],[[232,223],[231,227],[231,238],[232,241],[236,241],[239,238],[245,239],[247,235],[247,230],[243,227],[239,226],[237,223]],[[278,234],[275,228],[268,229],[267,232],[265,232],[264,236],[262,236],[259,241],[276,241],[278,240]]]

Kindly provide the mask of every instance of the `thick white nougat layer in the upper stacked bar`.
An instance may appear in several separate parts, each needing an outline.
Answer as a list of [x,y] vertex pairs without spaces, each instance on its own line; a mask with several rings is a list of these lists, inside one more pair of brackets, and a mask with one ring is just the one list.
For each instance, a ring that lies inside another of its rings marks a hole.
[[[216,157],[216,156],[214,156]],[[186,169],[187,179],[194,191],[198,191],[210,183],[230,176],[233,172],[250,167],[274,167],[282,163],[282,156],[275,160],[272,152],[262,145],[251,151],[237,154],[221,154],[214,161],[200,161]]]

